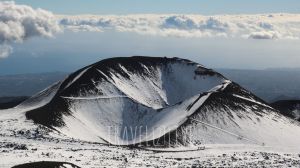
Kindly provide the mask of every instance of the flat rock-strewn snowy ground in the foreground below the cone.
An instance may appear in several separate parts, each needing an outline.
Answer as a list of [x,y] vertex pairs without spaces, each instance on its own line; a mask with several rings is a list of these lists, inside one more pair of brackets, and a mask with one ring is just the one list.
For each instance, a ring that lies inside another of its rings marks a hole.
[[0,137],[0,167],[34,161],[99,167],[299,167],[300,150],[258,145],[206,144],[181,149],[138,149],[62,139]]

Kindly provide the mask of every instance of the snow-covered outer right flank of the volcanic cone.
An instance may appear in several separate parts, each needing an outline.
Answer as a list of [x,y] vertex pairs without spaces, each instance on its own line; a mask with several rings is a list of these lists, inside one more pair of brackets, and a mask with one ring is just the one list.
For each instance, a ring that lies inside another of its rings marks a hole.
[[[243,97],[236,94],[232,96]],[[180,129],[190,131],[190,141],[205,144],[299,145],[298,122],[280,115],[265,104],[243,100],[247,101],[236,102],[235,108],[225,104],[228,100],[224,97],[206,101],[200,111],[192,116],[192,124]]]

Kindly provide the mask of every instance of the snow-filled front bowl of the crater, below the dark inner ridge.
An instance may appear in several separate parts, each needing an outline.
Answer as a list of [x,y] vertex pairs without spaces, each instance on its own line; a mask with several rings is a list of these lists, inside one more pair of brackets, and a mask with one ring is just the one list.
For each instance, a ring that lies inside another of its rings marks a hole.
[[[82,140],[98,141],[98,137],[102,137],[116,145],[150,141],[178,128],[208,96],[195,95],[180,104],[160,110],[137,104],[129,98],[93,101],[74,99],[70,108],[73,115],[64,116],[65,127],[56,129]],[[188,109],[193,102],[194,106]],[[91,135],[74,136],[72,132],[78,130]],[[123,134],[126,131],[125,136]]]

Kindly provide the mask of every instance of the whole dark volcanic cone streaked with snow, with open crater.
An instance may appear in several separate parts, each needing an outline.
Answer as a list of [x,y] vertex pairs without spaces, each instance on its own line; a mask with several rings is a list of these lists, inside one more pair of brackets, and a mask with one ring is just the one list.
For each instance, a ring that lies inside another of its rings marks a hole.
[[[55,86],[51,100],[26,117],[81,140],[115,145],[283,143],[292,130],[292,138],[300,137],[299,125],[221,74],[189,60],[111,58]],[[272,131],[275,128],[285,133]]]

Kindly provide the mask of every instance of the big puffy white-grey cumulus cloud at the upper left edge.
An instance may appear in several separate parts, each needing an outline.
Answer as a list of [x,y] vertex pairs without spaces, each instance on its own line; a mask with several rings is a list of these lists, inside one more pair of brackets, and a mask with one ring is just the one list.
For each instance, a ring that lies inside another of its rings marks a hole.
[[0,58],[12,52],[11,43],[36,36],[52,37],[59,31],[60,26],[51,12],[0,1]]

